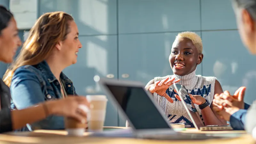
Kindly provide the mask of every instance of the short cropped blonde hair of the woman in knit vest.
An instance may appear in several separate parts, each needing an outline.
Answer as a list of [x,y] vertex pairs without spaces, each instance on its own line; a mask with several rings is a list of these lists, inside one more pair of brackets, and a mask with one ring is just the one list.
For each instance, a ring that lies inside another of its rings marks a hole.
[[188,38],[192,41],[192,43],[195,45],[197,51],[199,53],[202,53],[203,52],[203,43],[202,43],[202,39],[200,36],[198,36],[196,33],[194,32],[191,32],[191,31],[184,31],[184,32],[181,32],[179,33],[176,38],[175,38],[175,41],[176,40],[180,40],[182,38]]

